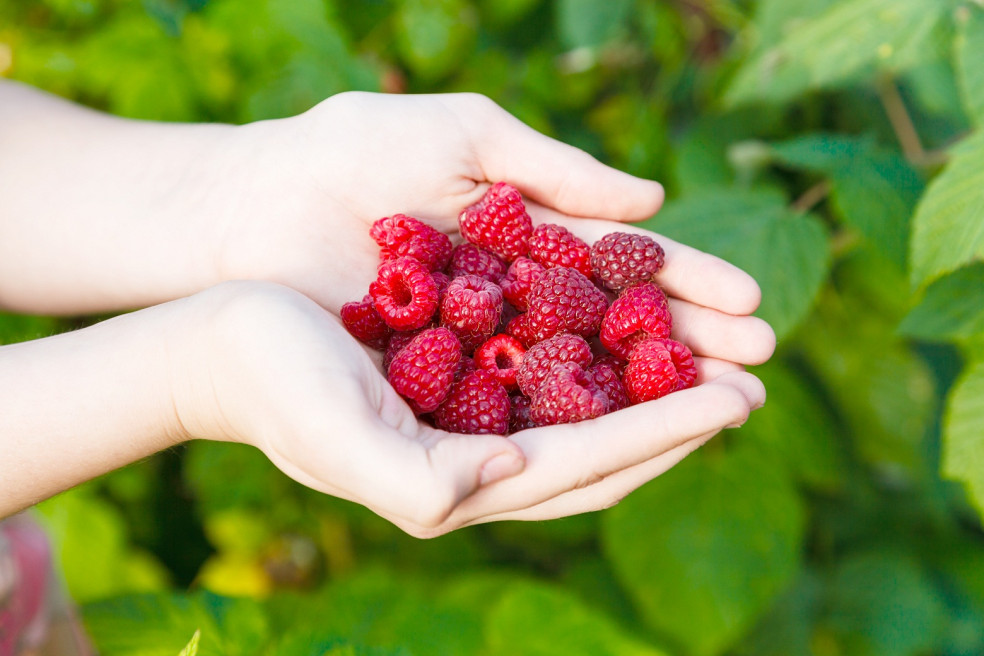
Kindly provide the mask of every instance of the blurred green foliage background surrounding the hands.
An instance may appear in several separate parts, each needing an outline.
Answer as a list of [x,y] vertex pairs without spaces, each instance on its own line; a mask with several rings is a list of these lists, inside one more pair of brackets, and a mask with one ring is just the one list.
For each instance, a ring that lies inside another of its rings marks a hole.
[[166,121],[486,94],[663,181],[779,336],[764,409],[601,513],[418,541],[207,443],[52,499],[103,654],[984,653],[979,0],[0,0],[0,74]]

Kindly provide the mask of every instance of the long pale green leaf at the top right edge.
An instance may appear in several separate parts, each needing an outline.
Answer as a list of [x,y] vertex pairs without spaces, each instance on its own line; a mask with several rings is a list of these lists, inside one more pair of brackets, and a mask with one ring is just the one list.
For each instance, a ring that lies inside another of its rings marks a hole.
[[784,102],[926,58],[947,17],[940,0],[840,0],[739,69],[725,103]]

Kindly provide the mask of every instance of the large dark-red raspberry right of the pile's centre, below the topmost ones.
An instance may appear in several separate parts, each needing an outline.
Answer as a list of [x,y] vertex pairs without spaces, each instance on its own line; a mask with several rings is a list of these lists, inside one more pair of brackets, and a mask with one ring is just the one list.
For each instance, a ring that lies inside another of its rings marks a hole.
[[589,337],[598,332],[608,308],[604,292],[575,269],[547,269],[530,289],[530,331],[537,341],[571,332]]

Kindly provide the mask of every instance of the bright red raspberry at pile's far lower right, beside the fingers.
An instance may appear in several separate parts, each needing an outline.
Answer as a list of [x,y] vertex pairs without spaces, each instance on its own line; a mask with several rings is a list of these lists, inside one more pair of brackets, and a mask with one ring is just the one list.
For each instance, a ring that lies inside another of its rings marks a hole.
[[690,349],[676,340],[654,337],[633,349],[622,382],[629,401],[642,403],[691,387],[695,378]]

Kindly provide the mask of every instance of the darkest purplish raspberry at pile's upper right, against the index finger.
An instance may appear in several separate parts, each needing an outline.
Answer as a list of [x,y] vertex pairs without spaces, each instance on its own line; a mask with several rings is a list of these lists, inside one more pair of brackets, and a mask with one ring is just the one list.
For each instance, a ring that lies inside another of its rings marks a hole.
[[591,270],[605,287],[621,290],[648,282],[663,268],[665,254],[655,239],[610,232],[591,247]]

